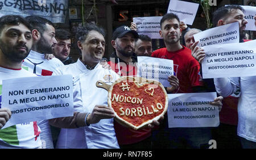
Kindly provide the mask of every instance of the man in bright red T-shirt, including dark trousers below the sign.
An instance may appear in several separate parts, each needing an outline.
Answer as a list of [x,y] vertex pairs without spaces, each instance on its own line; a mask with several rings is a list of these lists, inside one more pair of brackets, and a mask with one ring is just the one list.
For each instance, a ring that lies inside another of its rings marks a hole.
[[[199,62],[191,56],[191,50],[180,44],[181,28],[175,14],[166,14],[160,21],[160,36],[166,48],[155,50],[152,57],[174,61],[174,74],[179,79],[179,88],[173,93],[205,91],[200,75]],[[153,148],[209,148],[210,128],[168,128],[165,123],[152,134]]]

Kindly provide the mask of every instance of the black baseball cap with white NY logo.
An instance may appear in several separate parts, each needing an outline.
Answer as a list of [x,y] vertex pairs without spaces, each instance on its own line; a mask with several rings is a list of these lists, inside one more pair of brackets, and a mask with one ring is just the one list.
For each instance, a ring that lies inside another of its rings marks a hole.
[[133,33],[135,39],[138,39],[138,37],[139,37],[138,33],[134,30],[131,30],[130,27],[120,26],[120,27],[116,28],[115,31],[113,32],[112,40],[115,40],[116,38],[121,38],[124,35],[126,35],[126,33]]

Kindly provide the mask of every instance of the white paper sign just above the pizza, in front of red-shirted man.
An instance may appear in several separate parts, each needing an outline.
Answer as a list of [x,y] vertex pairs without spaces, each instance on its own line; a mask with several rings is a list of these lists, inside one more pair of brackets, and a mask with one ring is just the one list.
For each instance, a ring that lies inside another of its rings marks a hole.
[[174,61],[138,56],[137,77],[153,79],[164,87],[170,87],[170,82],[167,81],[169,75],[174,75]]

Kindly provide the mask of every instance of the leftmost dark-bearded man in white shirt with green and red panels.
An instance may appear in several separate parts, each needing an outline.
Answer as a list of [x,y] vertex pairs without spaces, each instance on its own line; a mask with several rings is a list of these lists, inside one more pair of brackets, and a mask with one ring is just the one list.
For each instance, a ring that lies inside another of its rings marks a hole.
[[[2,81],[35,76],[21,67],[31,46],[31,26],[26,19],[18,15],[0,18],[0,128],[11,116],[10,110],[4,108],[7,106],[1,106]],[[1,129],[0,148],[42,148],[39,134],[36,121]]]

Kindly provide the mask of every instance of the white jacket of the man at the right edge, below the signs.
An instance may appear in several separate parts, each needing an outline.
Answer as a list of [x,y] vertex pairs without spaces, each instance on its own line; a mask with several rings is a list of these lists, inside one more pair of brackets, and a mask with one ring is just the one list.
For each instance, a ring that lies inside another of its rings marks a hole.
[[237,134],[246,140],[256,142],[256,76],[236,78],[214,78],[216,91],[228,96],[241,88],[238,100]]

